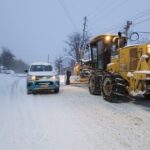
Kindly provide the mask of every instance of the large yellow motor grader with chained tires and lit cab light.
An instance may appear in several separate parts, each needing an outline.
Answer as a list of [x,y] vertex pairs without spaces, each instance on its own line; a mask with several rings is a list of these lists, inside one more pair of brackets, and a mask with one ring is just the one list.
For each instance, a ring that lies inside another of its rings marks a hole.
[[99,35],[90,41],[91,94],[108,101],[126,95],[150,99],[150,43],[126,46],[127,38]]

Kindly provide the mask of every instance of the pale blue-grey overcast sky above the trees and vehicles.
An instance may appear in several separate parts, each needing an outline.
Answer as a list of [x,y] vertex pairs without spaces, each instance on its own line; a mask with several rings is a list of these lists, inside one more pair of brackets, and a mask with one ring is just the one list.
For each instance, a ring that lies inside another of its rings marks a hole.
[[0,0],[0,47],[27,63],[63,54],[64,41],[82,32],[117,33],[127,20],[133,31],[150,32],[150,0]]

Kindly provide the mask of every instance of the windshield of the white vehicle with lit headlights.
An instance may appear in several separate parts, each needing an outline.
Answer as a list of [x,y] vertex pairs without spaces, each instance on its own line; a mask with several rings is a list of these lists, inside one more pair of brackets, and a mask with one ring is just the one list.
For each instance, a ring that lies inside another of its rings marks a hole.
[[32,65],[30,71],[52,71],[51,65]]

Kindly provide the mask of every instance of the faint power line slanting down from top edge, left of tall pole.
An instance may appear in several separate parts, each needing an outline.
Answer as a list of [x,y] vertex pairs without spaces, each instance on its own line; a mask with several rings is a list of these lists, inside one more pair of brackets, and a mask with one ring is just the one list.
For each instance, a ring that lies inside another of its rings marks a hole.
[[69,20],[70,23],[73,25],[74,29],[75,29],[76,31],[78,31],[78,28],[77,28],[75,22],[73,21],[73,18],[72,18],[72,16],[71,16],[69,10],[67,9],[67,6],[66,6],[65,2],[64,2],[63,0],[57,0],[57,1],[59,2],[59,4],[61,5],[61,7],[63,8],[63,10],[64,10],[64,12],[65,12],[65,14],[66,14],[68,20]]

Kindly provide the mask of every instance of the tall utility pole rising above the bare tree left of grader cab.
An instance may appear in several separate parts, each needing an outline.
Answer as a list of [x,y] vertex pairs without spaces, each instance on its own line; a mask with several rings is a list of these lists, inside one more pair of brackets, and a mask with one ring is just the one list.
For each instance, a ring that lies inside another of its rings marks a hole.
[[83,34],[82,34],[82,43],[80,47],[80,59],[82,59],[84,50],[85,50],[85,35],[86,35],[86,27],[87,27],[87,17],[84,17],[84,23],[83,23]]

